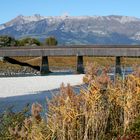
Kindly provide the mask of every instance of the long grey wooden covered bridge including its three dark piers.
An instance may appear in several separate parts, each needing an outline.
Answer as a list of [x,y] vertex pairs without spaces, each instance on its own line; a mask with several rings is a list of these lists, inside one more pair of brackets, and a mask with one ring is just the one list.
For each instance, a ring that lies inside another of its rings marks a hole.
[[83,56],[115,57],[121,73],[121,57],[140,57],[140,45],[71,45],[0,48],[0,57],[41,56],[41,74],[49,72],[48,56],[77,56],[77,72],[84,73]]

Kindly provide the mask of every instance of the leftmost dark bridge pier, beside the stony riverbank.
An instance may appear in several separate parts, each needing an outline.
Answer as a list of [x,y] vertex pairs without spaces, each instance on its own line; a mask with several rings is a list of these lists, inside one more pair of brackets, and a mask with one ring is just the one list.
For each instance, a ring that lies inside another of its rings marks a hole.
[[42,56],[41,59],[41,65],[40,65],[40,73],[42,75],[48,74],[49,71],[49,61],[48,61],[48,56]]

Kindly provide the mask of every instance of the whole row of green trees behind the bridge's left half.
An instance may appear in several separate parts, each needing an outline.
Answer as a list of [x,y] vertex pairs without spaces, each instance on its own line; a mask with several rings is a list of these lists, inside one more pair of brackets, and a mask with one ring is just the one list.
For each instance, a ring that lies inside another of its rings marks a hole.
[[36,38],[26,37],[23,39],[15,39],[14,37],[3,35],[0,36],[0,47],[10,46],[56,46],[58,44],[57,39],[54,36],[47,37],[44,42],[39,41]]

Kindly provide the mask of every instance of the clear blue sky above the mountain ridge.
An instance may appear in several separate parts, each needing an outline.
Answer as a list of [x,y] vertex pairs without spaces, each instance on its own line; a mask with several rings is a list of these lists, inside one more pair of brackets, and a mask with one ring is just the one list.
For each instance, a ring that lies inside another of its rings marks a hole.
[[0,24],[18,15],[126,15],[140,18],[140,0],[0,0]]

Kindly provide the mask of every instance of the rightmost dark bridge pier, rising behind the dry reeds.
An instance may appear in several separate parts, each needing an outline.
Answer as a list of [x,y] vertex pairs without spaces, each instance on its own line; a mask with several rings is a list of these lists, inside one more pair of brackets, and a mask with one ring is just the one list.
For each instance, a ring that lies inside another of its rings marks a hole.
[[121,57],[120,56],[116,57],[115,74],[116,75],[117,74],[119,74],[119,75],[122,74],[122,71],[121,71]]

